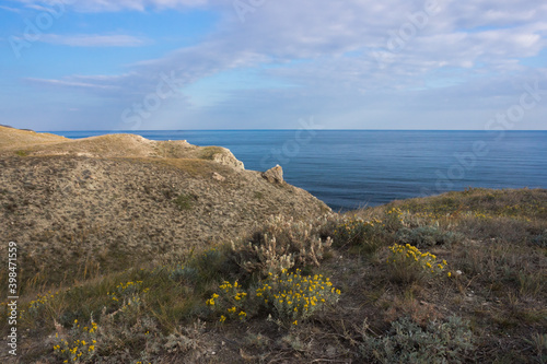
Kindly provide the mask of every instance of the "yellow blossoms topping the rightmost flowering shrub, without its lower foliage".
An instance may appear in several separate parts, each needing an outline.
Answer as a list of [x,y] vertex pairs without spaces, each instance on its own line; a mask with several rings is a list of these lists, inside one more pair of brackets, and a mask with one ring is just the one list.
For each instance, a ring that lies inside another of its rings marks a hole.
[[428,251],[421,253],[417,247],[410,244],[395,244],[389,247],[389,251],[387,263],[398,267],[408,269],[418,268],[426,273],[438,274],[447,266],[446,260],[438,262],[435,255]]

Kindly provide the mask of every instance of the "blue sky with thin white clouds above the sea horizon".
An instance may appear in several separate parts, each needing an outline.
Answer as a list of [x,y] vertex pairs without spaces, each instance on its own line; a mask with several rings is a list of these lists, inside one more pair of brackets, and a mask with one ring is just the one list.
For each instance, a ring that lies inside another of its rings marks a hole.
[[0,0],[0,44],[16,128],[547,130],[540,0]]

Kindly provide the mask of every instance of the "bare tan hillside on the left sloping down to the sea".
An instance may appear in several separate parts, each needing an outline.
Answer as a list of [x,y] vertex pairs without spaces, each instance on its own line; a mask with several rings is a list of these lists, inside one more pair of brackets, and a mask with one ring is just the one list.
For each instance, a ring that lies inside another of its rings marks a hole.
[[73,280],[138,266],[143,256],[161,261],[272,214],[329,210],[302,189],[245,171],[223,148],[0,131],[10,141],[0,150],[0,234],[20,244],[27,279]]

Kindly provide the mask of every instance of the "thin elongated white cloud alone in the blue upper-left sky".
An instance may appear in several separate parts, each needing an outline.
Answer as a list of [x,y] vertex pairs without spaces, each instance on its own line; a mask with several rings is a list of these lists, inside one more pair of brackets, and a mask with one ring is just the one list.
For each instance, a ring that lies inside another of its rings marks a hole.
[[40,42],[72,47],[138,47],[150,40],[131,35],[44,34]]

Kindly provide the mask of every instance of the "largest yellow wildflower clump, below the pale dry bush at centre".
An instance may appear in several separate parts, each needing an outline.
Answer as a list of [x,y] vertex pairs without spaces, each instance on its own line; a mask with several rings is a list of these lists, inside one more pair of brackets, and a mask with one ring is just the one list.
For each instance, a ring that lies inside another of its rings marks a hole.
[[289,319],[293,325],[326,304],[335,304],[339,295],[340,290],[333,286],[330,279],[322,274],[305,277],[300,269],[294,273],[283,270],[280,275],[269,275],[256,290],[256,296],[264,300],[267,307],[274,307],[281,319]]

